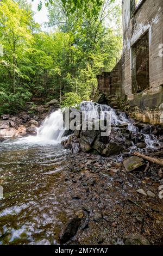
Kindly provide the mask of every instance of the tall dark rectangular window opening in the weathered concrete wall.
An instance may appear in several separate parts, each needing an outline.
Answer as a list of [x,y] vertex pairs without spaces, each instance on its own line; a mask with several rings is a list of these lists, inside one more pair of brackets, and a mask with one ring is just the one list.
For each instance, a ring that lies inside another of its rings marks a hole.
[[132,93],[149,87],[149,33],[132,47]]

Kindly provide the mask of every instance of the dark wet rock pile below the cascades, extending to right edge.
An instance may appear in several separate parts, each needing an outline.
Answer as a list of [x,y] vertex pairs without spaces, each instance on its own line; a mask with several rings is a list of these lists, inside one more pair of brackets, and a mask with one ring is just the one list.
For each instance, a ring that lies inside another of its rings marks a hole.
[[[78,112],[80,116],[81,111],[78,109],[70,108],[70,114],[73,111]],[[80,118],[80,123],[82,117]],[[70,118],[70,123],[72,118]],[[97,121],[97,120],[96,120]],[[99,120],[100,122],[100,120]],[[66,141],[62,142],[62,145],[66,149],[71,149],[74,154],[79,151],[84,153],[92,153],[96,155],[102,155],[108,157],[110,155],[117,155],[124,152],[130,152],[130,147],[135,145],[137,149],[147,148],[145,134],[150,136],[153,133],[154,136],[160,137],[163,135],[163,129],[161,126],[152,126],[142,123],[135,123],[137,127],[137,132],[132,132],[128,130],[128,123],[122,123],[120,125],[111,125],[111,133],[107,137],[101,136],[102,131],[99,129],[95,130],[95,120],[93,124],[93,129],[89,130],[89,123],[86,123],[86,130],[83,130],[83,124],[78,125],[76,130],[72,132],[71,130],[66,131],[66,136],[73,133]],[[99,125],[100,126],[100,125]],[[155,145],[157,147],[157,145]]]

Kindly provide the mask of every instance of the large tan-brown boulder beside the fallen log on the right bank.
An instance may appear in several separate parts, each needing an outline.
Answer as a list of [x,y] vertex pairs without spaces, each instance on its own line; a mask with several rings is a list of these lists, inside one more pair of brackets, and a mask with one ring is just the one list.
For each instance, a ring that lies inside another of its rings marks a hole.
[[131,156],[124,159],[123,165],[127,172],[138,172],[145,168],[145,162],[137,156]]

